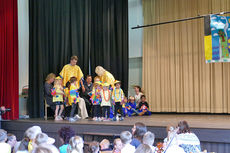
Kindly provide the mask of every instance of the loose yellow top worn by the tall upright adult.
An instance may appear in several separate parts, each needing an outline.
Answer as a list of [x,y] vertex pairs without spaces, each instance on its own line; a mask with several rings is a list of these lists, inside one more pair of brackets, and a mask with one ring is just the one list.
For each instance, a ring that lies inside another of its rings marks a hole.
[[71,77],[75,76],[77,78],[77,88],[80,88],[80,80],[83,78],[83,73],[81,68],[77,65],[72,66],[67,64],[63,67],[62,71],[60,72],[60,76],[63,78],[63,85],[65,86],[66,83],[70,80]]

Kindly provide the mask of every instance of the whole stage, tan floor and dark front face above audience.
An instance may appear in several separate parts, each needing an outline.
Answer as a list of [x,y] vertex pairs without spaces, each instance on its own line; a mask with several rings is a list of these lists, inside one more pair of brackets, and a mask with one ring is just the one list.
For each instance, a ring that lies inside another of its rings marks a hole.
[[104,137],[113,140],[124,130],[131,131],[135,122],[143,122],[148,130],[156,136],[155,142],[162,141],[166,136],[166,126],[174,125],[181,120],[188,121],[192,131],[199,137],[202,149],[218,153],[230,152],[230,115],[210,114],[153,114],[151,116],[126,117],[124,121],[96,122],[92,120],[79,120],[74,123],[69,121],[54,121],[43,119],[26,119],[14,121],[2,121],[2,128],[16,134],[21,139],[24,131],[33,125],[38,125],[42,131],[57,141],[57,131],[63,126],[71,126],[85,142],[102,140]]

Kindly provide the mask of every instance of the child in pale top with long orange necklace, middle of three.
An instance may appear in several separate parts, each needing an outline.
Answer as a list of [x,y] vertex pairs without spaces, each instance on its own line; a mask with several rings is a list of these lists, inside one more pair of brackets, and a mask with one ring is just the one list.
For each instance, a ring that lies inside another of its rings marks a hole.
[[[101,90],[101,107],[102,107],[102,120],[109,121],[110,107],[111,107],[111,91],[109,90],[109,84],[104,83],[103,89]],[[106,116],[107,114],[107,116]]]

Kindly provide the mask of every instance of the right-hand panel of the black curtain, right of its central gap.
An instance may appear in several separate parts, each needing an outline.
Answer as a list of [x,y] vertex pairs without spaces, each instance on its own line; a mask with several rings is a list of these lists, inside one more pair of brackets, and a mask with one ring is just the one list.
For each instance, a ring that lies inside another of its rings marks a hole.
[[100,65],[122,82],[128,93],[128,0],[92,0],[90,63]]

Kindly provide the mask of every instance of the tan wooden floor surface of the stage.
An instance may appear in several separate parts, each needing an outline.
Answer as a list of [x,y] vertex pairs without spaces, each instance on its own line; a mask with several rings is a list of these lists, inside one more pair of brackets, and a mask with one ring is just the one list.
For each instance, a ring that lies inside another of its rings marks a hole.
[[230,129],[230,115],[196,115],[196,114],[152,114],[151,116],[126,117],[124,121],[96,122],[90,119],[79,120],[70,123],[69,121],[54,121],[52,119],[25,119],[18,122],[48,122],[48,123],[68,123],[68,124],[97,124],[97,125],[123,125],[132,126],[135,122],[143,122],[147,126],[166,127],[168,125],[176,126],[181,120],[186,120],[191,128],[206,129]]

